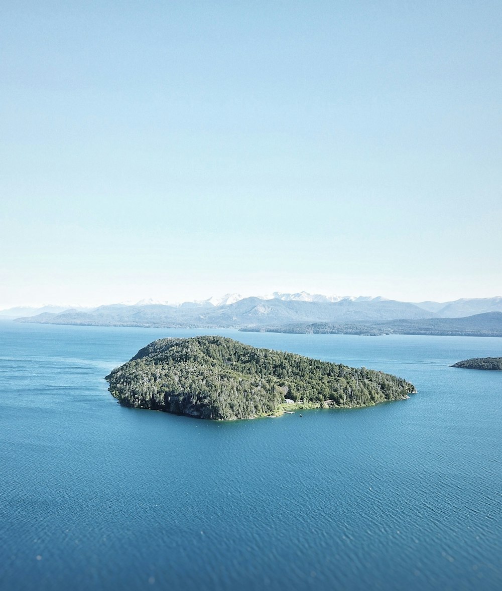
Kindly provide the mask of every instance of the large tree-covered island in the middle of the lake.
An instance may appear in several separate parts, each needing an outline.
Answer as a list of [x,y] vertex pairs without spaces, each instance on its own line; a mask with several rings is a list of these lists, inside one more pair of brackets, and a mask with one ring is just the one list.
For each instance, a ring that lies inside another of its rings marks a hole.
[[405,400],[413,384],[366,368],[257,349],[221,336],[156,340],[105,378],[125,407],[214,420]]

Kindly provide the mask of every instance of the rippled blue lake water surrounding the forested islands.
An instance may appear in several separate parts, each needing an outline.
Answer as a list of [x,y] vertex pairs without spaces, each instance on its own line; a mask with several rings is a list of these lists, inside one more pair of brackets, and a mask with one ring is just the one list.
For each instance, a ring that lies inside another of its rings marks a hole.
[[502,339],[209,331],[366,366],[407,401],[221,423],[103,376],[202,330],[0,323],[0,589],[502,589]]

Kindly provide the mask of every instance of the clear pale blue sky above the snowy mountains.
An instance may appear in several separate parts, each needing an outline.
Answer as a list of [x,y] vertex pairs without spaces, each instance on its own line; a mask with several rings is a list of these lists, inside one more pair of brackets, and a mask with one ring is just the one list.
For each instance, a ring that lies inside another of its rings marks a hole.
[[502,295],[502,5],[3,2],[0,308]]

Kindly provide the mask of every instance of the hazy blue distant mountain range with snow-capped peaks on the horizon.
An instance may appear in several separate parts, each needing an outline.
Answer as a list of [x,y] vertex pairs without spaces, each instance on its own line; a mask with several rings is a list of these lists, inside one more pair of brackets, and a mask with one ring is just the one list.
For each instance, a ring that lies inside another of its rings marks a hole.
[[[181,304],[142,300],[135,304],[112,304],[93,309],[61,310],[60,307],[51,309],[46,306],[43,309],[28,311],[18,308],[4,310],[0,314],[4,317],[16,317],[20,322],[48,324],[277,328],[310,323],[382,325],[396,320],[455,319],[491,312],[502,312],[502,297],[462,298],[445,303],[410,303],[383,297],[338,297],[306,292],[275,292],[271,296],[263,297],[226,294],[220,298]],[[486,322],[487,319],[484,320],[484,325]]]

